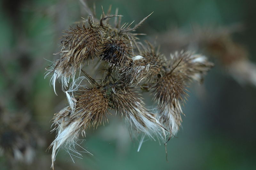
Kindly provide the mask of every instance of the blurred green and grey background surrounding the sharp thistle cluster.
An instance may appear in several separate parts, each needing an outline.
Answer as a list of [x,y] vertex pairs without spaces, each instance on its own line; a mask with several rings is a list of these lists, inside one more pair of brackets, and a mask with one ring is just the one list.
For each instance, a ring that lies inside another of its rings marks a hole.
[[[118,8],[119,14],[124,15],[123,22],[139,22],[154,11],[137,30],[147,34],[141,39],[160,45],[166,56],[181,48],[195,49],[211,57],[215,67],[203,85],[189,87],[182,128],[167,144],[168,162],[164,145],[158,141],[145,141],[137,152],[139,139],[130,138],[125,121],[119,116],[110,116],[109,124],[89,130],[81,144],[94,156],[83,153],[83,159],[74,157],[74,164],[66,151],[60,150],[56,169],[256,169],[256,86],[238,83],[227,72],[221,56],[215,57],[204,46],[193,45],[193,38],[204,35],[200,32],[221,32],[224,27],[232,42],[242,46],[250,62],[256,63],[255,1],[86,3],[89,7],[96,4],[98,17],[101,5],[107,11],[112,4],[112,13]],[[79,0],[2,0],[0,4],[0,169],[50,169],[51,150],[46,150],[55,137],[55,133],[50,133],[51,119],[67,102],[58,83],[58,96],[54,94],[50,77],[44,79],[44,69],[50,64],[48,60],[58,58],[53,53],[60,50],[62,30],[82,21],[81,17],[86,18],[87,10]],[[21,120],[26,122],[26,128],[20,125]],[[26,136],[33,150],[29,163],[16,161],[12,151],[4,151],[22,128],[24,133],[29,129],[29,134],[33,134]],[[14,129],[12,133],[10,129]]]

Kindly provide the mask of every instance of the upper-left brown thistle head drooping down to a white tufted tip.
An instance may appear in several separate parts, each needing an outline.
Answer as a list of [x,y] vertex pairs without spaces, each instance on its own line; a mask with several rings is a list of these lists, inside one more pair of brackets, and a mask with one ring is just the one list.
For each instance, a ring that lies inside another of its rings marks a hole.
[[[81,68],[85,61],[93,58],[99,50],[99,41],[101,34],[97,27],[70,28],[66,31],[67,35],[62,36],[62,49],[60,50],[60,59],[53,62],[53,69],[46,75],[53,72],[52,85],[55,91],[55,81],[60,79],[62,87],[67,87],[70,78],[74,79],[76,70]],[[55,92],[56,93],[56,92]]]

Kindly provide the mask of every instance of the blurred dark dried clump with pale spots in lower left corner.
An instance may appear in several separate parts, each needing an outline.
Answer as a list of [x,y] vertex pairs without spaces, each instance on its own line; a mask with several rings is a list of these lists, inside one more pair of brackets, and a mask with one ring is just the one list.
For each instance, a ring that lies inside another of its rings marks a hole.
[[36,149],[44,140],[28,114],[0,113],[0,151],[11,165],[17,162],[29,165],[36,158]]

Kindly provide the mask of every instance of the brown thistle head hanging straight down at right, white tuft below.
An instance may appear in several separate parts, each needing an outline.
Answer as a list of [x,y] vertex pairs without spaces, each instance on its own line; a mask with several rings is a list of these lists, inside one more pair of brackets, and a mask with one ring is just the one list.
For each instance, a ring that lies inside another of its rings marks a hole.
[[157,119],[171,132],[171,135],[175,135],[181,125],[181,102],[186,95],[185,88],[182,77],[174,72],[159,76],[152,87],[154,100],[159,108]]

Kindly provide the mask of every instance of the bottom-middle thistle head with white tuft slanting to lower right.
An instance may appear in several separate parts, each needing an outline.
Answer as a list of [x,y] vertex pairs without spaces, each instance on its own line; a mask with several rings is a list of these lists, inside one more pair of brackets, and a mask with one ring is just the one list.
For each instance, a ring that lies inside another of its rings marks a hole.
[[116,112],[120,112],[122,116],[131,122],[131,126],[135,130],[142,131],[152,138],[154,134],[161,134],[163,128],[156,120],[156,115],[148,112],[144,107],[145,104],[142,98],[135,91],[124,87],[113,88],[110,99]]

